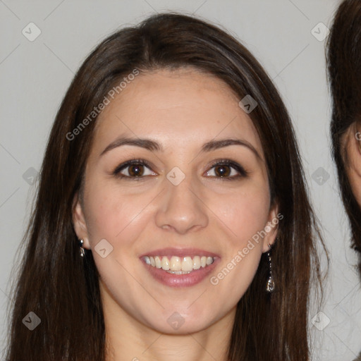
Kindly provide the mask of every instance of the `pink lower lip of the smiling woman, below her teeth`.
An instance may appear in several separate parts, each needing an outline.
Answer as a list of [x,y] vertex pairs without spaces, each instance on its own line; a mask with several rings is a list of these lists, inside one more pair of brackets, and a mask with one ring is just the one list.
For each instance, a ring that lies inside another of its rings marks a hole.
[[164,269],[157,268],[146,264],[143,260],[142,263],[145,265],[149,273],[165,286],[169,287],[190,287],[195,286],[197,283],[202,282],[216,267],[219,258],[214,259],[212,264],[209,264],[206,267],[201,267],[200,269],[195,269],[189,274],[170,274]]

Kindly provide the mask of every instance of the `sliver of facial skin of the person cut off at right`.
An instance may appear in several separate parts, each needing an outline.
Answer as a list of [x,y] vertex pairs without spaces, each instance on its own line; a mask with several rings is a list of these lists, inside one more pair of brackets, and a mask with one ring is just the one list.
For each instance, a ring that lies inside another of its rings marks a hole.
[[[358,128],[358,129],[357,129]],[[351,189],[357,203],[361,207],[361,133],[360,126],[356,123],[351,124],[341,137],[341,144],[343,145],[343,152],[347,154],[343,157],[345,161],[345,169],[350,181]]]

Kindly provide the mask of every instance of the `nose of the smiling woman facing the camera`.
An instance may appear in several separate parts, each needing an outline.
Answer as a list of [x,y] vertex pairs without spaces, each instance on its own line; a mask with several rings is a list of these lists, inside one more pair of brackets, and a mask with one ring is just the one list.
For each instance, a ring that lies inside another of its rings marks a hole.
[[209,217],[204,197],[192,187],[190,178],[186,176],[178,185],[165,180],[155,219],[159,228],[185,234],[207,226]]

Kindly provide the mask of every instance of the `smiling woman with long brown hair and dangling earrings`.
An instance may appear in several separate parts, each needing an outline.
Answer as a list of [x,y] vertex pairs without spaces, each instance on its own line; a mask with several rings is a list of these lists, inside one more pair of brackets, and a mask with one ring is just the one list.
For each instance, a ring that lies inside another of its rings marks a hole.
[[214,25],[152,16],[63,99],[6,360],[309,360],[317,236],[263,68]]

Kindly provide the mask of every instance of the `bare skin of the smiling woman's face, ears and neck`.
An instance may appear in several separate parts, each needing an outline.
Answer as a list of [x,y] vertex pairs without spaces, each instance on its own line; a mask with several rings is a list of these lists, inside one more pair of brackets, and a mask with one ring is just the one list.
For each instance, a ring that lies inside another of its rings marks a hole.
[[[276,219],[262,144],[239,100],[211,75],[160,70],[138,75],[99,115],[73,221],[100,274],[106,360],[226,360],[237,302],[274,243],[276,226],[216,286],[210,277],[188,288],[164,286],[139,257],[164,247],[197,247],[221,257],[216,275]],[[163,151],[123,145],[99,155],[121,135],[155,140]],[[243,145],[200,152],[205,142],[226,138],[245,140],[259,157]],[[145,159],[152,168],[142,168],[138,181],[134,173],[112,174],[130,159]],[[240,164],[247,176],[221,178],[212,167],[217,159]],[[179,185],[166,178],[175,166],[185,175]],[[113,247],[105,258],[94,252],[102,239]],[[173,312],[184,319],[177,330],[167,322]]]

